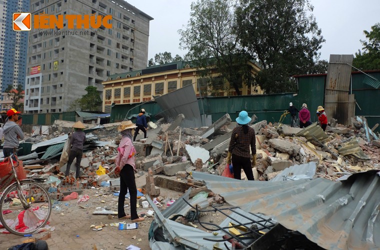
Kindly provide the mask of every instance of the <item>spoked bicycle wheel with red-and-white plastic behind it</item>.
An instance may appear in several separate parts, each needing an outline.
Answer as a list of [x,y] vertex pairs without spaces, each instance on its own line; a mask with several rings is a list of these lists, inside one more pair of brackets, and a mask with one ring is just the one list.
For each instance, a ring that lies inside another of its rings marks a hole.
[[[17,235],[30,234],[43,227],[51,213],[50,199],[45,189],[32,180],[21,180],[18,193],[17,182],[9,185],[0,199],[1,224]],[[20,199],[23,195],[27,204]]]

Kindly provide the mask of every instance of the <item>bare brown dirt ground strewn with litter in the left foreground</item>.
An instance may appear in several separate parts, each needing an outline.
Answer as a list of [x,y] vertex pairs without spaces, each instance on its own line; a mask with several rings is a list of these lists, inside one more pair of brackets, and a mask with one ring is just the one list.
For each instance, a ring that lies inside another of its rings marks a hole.
[[[145,176],[136,178],[137,188],[145,184]],[[161,189],[161,196],[177,199],[182,193],[172,190]],[[118,230],[117,226],[109,226],[109,223],[119,222],[117,215],[108,218],[107,215],[94,215],[92,212],[96,207],[110,208],[117,212],[117,196],[110,193],[108,187],[98,189],[83,189],[83,194],[89,195],[89,200],[82,202],[83,208],[76,206],[77,199],[69,201],[56,201],[50,216],[50,226],[55,230],[50,232],[51,237],[46,239],[49,249],[125,249],[133,244],[141,249],[150,249],[148,242],[148,231],[153,217],[146,217],[144,221],[138,223],[137,229]],[[96,196],[98,194],[102,194]],[[80,195],[79,195],[80,196]],[[125,200],[129,204],[129,199]],[[137,208],[137,212],[144,213],[147,209]],[[129,207],[125,207],[125,212],[129,214]],[[126,220],[127,223],[131,221]],[[102,230],[93,231],[91,225],[108,224]],[[40,238],[47,232],[33,234],[32,237]],[[20,244],[27,239],[14,234],[0,235],[0,249]]]

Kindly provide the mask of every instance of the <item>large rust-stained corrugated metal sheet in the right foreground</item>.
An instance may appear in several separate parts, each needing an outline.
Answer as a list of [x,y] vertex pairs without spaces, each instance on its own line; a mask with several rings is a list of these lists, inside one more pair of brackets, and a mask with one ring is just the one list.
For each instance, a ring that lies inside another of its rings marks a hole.
[[380,248],[380,176],[375,171],[352,174],[347,180],[324,178],[294,181],[213,180],[192,176],[229,204],[273,217],[326,249]]

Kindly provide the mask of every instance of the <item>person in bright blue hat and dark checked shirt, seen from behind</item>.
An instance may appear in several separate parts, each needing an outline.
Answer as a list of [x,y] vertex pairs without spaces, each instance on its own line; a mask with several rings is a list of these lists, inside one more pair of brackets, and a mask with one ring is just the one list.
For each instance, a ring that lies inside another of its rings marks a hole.
[[[256,165],[256,135],[254,129],[248,126],[250,120],[248,113],[241,111],[236,118],[238,126],[233,128],[229,141],[227,163],[232,162],[235,179],[241,179],[242,168],[247,179],[253,180],[252,168]],[[250,151],[252,151],[252,162],[250,161]]]

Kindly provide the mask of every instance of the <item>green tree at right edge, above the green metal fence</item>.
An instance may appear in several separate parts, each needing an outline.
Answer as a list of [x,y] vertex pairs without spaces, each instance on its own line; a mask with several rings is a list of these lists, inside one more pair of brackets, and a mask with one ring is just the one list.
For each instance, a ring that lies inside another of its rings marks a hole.
[[380,69],[380,23],[363,32],[367,40],[360,40],[363,50],[355,53],[352,65],[361,70]]

